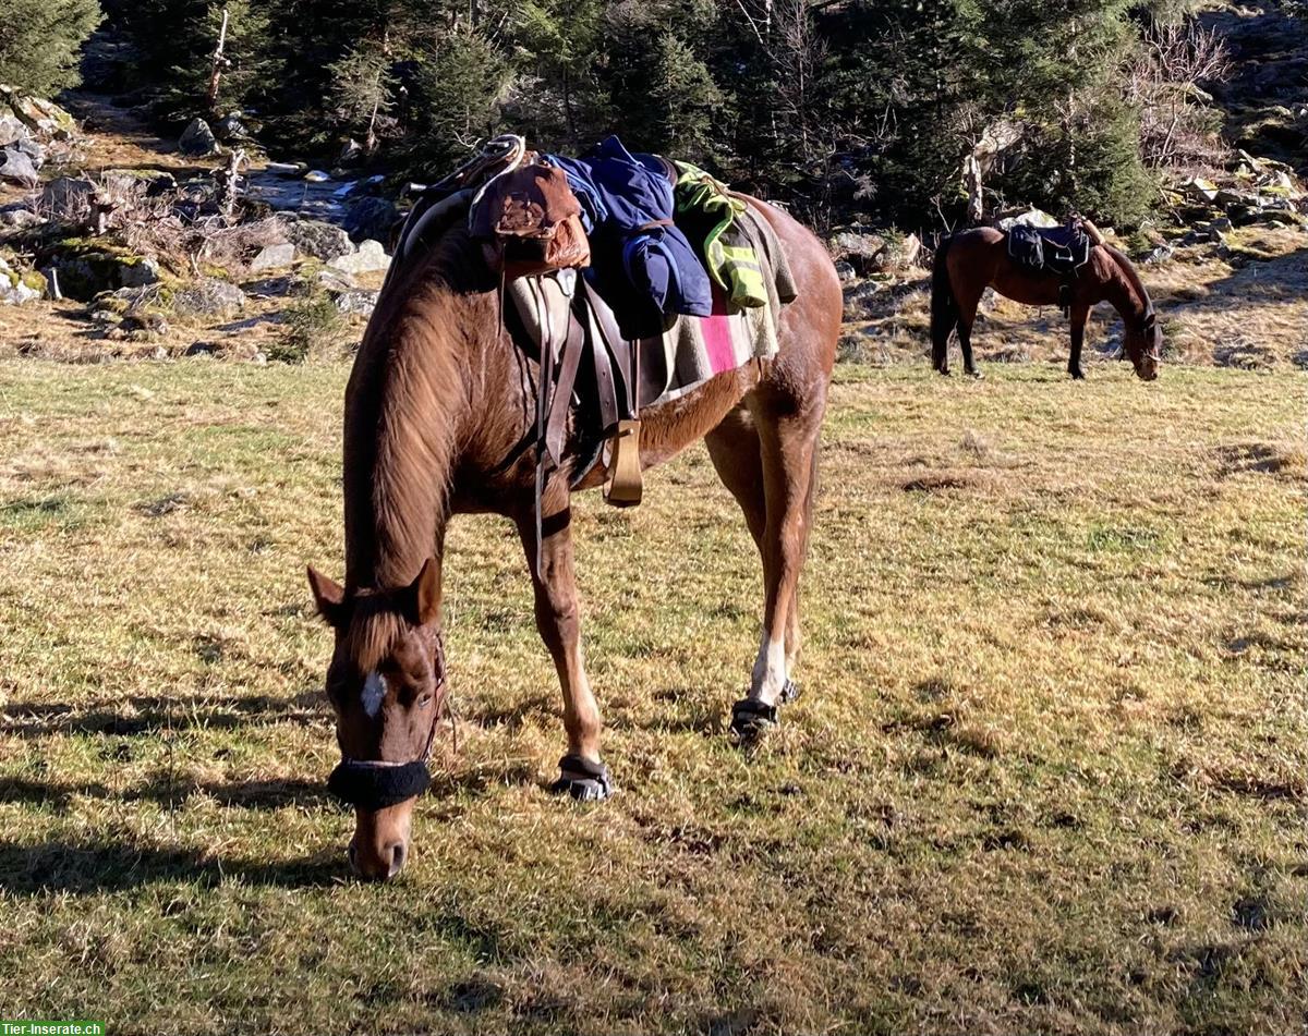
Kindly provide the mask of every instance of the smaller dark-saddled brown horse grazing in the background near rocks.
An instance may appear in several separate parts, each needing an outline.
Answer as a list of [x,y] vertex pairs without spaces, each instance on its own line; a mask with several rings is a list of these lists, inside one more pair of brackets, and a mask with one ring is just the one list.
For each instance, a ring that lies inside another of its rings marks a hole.
[[[944,238],[935,250],[931,273],[931,362],[942,374],[950,373],[950,334],[957,328],[963,349],[963,369],[981,377],[972,362],[972,324],[985,289],[1028,306],[1059,305],[1063,281],[1053,273],[1032,272],[1008,255],[1008,235],[993,226],[978,226]],[[1099,302],[1109,302],[1126,328],[1124,352],[1144,381],[1158,377],[1162,360],[1163,328],[1154,303],[1130,260],[1100,239],[1090,251],[1090,262],[1076,271],[1070,298],[1071,354],[1067,373],[1084,378],[1080,347],[1086,320]]]

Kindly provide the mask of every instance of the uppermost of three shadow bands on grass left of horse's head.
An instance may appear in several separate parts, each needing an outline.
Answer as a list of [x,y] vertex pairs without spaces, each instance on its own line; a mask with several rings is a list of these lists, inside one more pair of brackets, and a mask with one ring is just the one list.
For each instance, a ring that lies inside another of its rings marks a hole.
[[[129,712],[127,712],[129,706]],[[246,726],[297,723],[313,726],[330,718],[326,696],[317,689],[289,699],[271,695],[213,699],[201,695],[132,695],[85,708],[47,702],[13,702],[0,709],[0,734],[42,738],[48,734],[149,734],[158,730],[234,730]]]

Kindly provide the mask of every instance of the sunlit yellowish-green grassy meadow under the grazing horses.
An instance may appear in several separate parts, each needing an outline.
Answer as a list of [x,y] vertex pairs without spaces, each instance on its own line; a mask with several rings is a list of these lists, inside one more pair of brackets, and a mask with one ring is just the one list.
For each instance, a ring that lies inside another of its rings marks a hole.
[[377,887],[303,581],[347,368],[0,365],[0,1018],[1303,1032],[1308,379],[1127,368],[840,369],[804,695],[748,752],[761,578],[702,447],[581,498],[596,807],[543,790],[515,536],[456,522],[458,748]]

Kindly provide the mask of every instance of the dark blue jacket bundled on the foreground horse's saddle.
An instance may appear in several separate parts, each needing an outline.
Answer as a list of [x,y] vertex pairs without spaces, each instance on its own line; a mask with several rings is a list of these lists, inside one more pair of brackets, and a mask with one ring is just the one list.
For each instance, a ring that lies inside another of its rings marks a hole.
[[611,136],[581,158],[547,161],[564,170],[581,201],[594,256],[586,276],[624,337],[662,335],[679,314],[713,313],[709,275],[672,224],[672,182],[661,158],[632,154]]

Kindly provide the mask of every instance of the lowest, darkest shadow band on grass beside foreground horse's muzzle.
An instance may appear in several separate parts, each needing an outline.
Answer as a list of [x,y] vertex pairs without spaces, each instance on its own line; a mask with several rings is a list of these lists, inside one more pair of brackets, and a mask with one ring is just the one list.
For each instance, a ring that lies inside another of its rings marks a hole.
[[156,882],[309,888],[335,884],[345,876],[345,855],[339,846],[301,859],[260,862],[110,841],[0,841],[0,889],[13,895],[118,892]]

